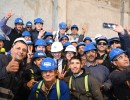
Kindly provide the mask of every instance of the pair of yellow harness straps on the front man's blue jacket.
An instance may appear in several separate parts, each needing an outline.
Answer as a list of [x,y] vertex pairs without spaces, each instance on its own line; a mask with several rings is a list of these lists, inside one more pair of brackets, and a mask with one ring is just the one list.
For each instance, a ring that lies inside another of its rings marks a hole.
[[[43,82],[44,82],[43,80],[40,81],[38,86],[37,86],[37,89],[36,89],[36,99],[38,99],[39,90],[42,87],[42,83]],[[56,92],[57,92],[58,100],[60,100],[60,80],[59,79],[56,79]]]

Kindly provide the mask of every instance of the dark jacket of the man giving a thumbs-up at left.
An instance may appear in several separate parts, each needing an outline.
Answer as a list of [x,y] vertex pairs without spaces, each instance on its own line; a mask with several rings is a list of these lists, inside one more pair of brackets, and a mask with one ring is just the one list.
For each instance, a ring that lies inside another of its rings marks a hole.
[[[19,66],[19,71],[17,73],[7,73],[6,66],[11,61],[10,55],[0,55],[0,87],[7,89],[10,91],[9,93],[3,93],[0,90],[0,97],[1,98],[12,98],[12,95],[14,95],[13,100],[22,100],[20,94],[21,92],[21,86],[22,86],[22,74],[24,71],[24,63],[21,62]],[[5,95],[6,94],[6,95]]]

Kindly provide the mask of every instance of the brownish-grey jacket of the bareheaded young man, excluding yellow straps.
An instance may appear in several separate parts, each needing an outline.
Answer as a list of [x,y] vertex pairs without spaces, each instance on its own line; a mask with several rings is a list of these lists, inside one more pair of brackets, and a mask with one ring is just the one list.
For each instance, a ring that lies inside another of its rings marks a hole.
[[[90,75],[88,76],[89,92],[85,90],[85,71],[77,77],[72,76],[71,100],[103,100],[99,83]],[[64,79],[69,85],[70,76]]]

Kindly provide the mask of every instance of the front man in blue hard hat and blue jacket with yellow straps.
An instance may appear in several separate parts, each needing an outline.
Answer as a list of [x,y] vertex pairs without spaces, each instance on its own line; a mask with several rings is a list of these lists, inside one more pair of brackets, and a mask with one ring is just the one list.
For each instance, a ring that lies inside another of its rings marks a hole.
[[40,65],[44,81],[36,83],[28,100],[70,100],[70,92],[67,84],[57,76],[57,65],[52,58],[45,58]]

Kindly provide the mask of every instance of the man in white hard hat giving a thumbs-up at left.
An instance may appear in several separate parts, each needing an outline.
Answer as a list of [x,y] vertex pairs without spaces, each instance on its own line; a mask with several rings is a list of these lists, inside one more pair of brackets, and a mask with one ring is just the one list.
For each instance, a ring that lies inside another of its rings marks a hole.
[[11,48],[11,55],[0,55],[0,99],[22,100],[21,83],[24,71],[23,59],[27,54],[24,38],[17,38]]

